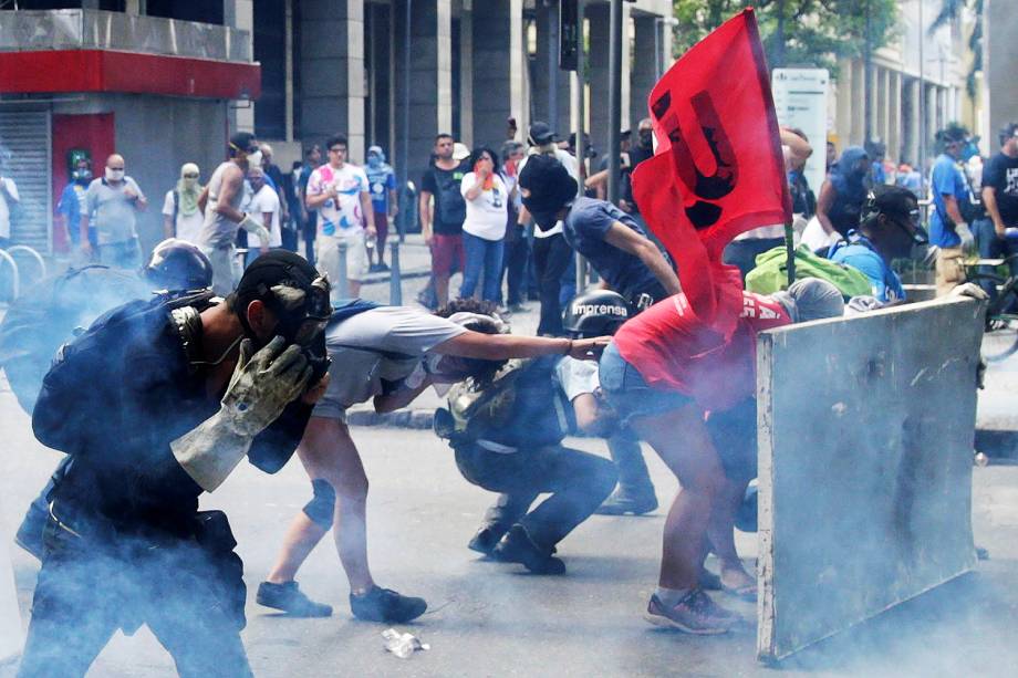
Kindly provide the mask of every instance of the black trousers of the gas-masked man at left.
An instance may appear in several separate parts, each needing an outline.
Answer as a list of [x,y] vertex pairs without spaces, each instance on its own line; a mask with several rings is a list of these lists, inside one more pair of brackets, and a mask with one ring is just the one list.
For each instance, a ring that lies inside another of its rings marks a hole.
[[19,676],[84,676],[117,629],[133,634],[142,624],[180,676],[252,675],[240,640],[246,588],[236,543],[96,541],[52,519],[45,542]]

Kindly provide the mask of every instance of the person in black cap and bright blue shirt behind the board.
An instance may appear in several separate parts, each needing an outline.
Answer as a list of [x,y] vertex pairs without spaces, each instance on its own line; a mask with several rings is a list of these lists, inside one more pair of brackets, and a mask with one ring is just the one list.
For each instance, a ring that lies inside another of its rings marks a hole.
[[898,186],[875,186],[863,204],[862,222],[846,239],[834,243],[828,258],[861,271],[882,303],[905,300],[905,289],[891,268],[894,259],[907,259],[912,247],[926,244],[929,236],[920,226],[915,195]]

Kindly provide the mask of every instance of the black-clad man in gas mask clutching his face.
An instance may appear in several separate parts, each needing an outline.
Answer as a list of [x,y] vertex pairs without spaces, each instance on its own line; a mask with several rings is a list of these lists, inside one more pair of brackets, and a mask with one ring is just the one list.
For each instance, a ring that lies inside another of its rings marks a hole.
[[245,456],[274,472],[293,453],[330,311],[314,268],[273,251],[225,303],[132,302],[61,350],[32,427],[73,462],[49,497],[21,676],[82,676],[142,624],[183,676],[251,674],[243,564],[198,497]]

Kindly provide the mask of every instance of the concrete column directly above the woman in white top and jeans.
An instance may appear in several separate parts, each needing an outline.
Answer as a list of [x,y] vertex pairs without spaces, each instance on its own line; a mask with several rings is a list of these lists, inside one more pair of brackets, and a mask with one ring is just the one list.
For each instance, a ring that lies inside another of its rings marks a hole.
[[[472,19],[475,96],[469,105],[474,109],[474,140],[496,152],[506,140],[506,118],[516,117],[524,129],[527,124],[518,103],[526,59],[521,53],[522,4],[522,0],[489,0]],[[565,75],[561,79],[563,87],[569,83]]]

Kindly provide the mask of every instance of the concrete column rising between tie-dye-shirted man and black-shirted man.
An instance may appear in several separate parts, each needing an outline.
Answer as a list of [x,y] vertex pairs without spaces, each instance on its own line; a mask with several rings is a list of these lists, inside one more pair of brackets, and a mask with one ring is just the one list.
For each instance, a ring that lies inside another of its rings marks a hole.
[[[409,134],[403,128],[404,114],[404,44],[406,27],[405,4],[398,2],[395,10],[396,46],[396,149],[408,147],[407,173],[412,181],[419,185],[427,168],[435,135],[451,133],[453,128],[453,73],[451,73],[451,0],[414,0],[411,17],[411,90]],[[396,156],[402,161],[402,155]],[[397,168],[398,170],[398,168]]]

